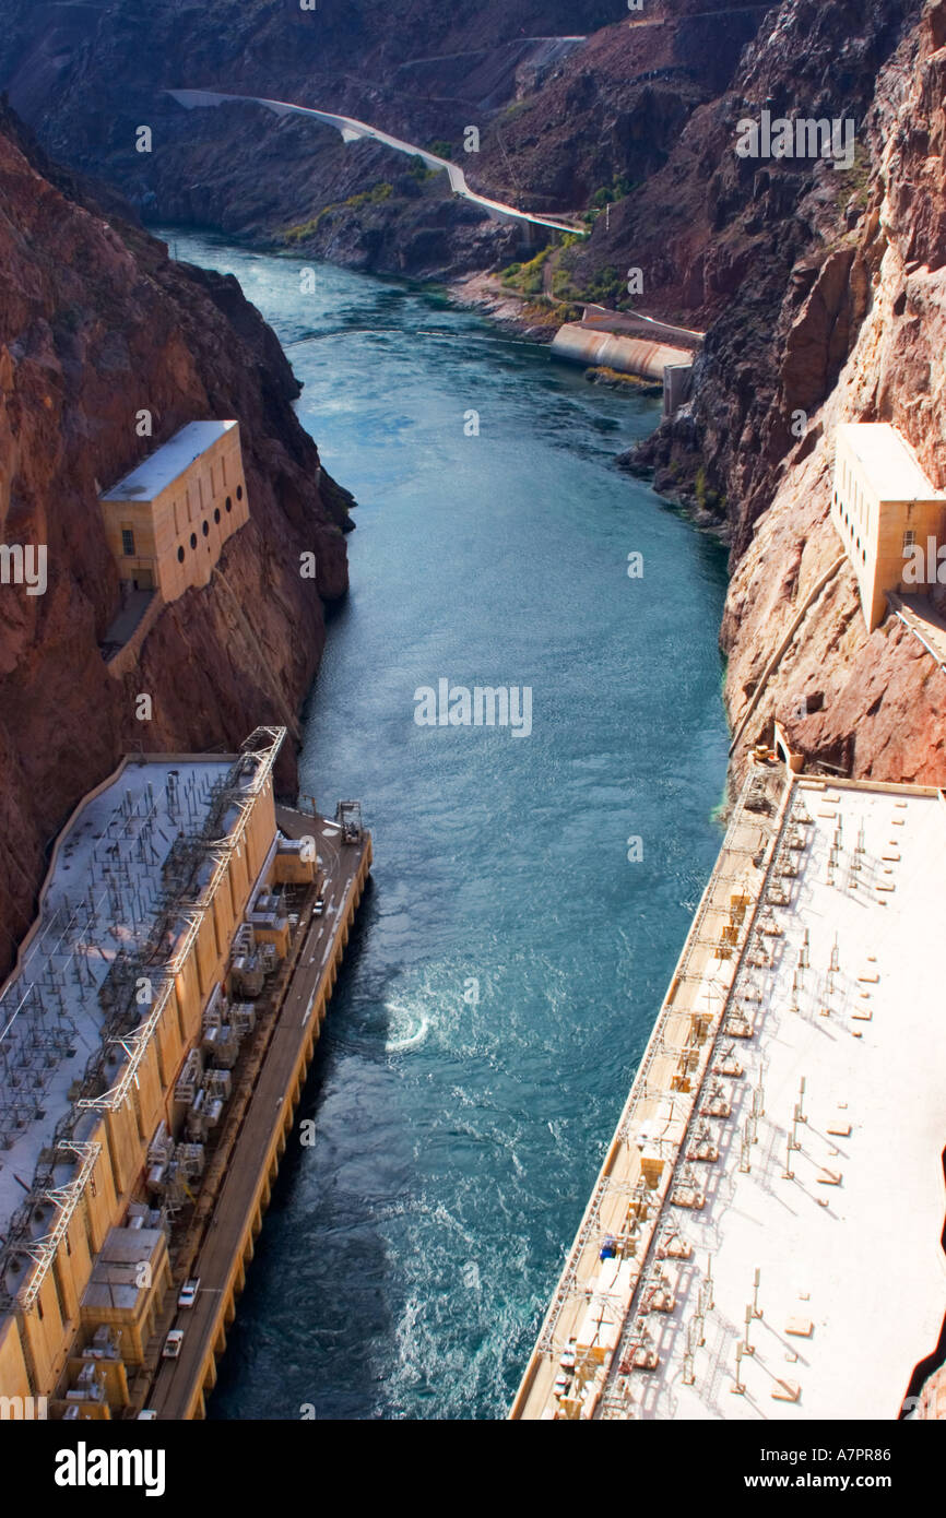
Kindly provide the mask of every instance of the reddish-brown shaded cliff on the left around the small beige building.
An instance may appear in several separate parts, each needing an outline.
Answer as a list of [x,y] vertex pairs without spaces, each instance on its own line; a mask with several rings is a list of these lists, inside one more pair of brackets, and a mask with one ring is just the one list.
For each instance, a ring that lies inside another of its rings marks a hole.
[[[238,744],[295,726],[348,586],[346,501],[292,411],[298,384],[234,279],[109,226],[0,117],[0,543],[47,546],[49,586],[0,586],[0,970],[46,847],[126,750]],[[135,431],[140,410],[153,437]],[[252,519],[203,591],[159,616],[123,682],[99,653],[118,607],[97,484],[184,422],[241,424]],[[317,559],[317,584],[299,574]],[[135,718],[147,692],[153,720]],[[292,785],[292,745],[282,780]]]

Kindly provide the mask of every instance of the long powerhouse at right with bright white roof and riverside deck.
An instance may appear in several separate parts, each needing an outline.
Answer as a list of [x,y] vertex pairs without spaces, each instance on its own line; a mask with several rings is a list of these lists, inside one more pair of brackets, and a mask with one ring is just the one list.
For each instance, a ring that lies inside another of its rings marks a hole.
[[944,844],[941,791],[759,756],[512,1418],[899,1416],[946,1307]]

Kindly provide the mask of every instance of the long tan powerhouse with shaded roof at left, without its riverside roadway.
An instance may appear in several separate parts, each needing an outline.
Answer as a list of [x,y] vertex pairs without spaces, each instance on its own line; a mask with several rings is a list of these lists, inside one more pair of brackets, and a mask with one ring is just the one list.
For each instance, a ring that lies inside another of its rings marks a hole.
[[287,953],[287,893],[314,882],[314,850],[276,826],[282,739],[126,759],[56,841],[0,990],[0,1416],[8,1398],[129,1404],[169,1224]]

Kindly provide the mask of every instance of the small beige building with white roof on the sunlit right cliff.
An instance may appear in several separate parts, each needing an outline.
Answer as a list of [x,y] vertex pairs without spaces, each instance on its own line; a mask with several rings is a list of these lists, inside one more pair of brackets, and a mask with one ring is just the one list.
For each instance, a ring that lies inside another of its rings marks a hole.
[[872,633],[887,612],[887,591],[923,587],[917,550],[932,560],[935,578],[935,550],[946,540],[946,492],[931,484],[896,427],[849,422],[837,433],[831,519],[858,577]]

